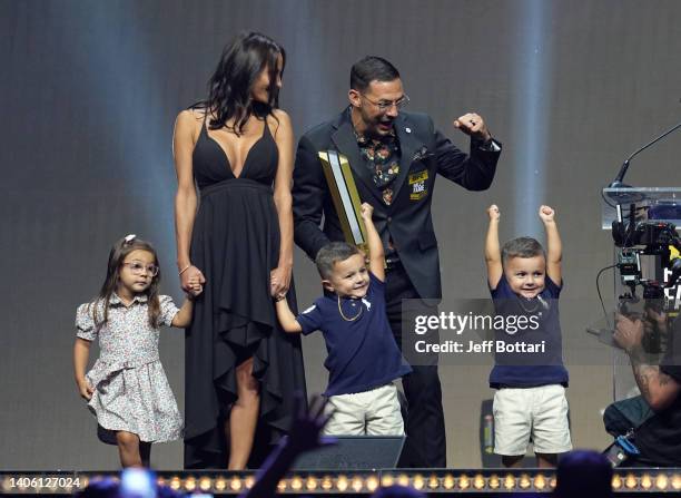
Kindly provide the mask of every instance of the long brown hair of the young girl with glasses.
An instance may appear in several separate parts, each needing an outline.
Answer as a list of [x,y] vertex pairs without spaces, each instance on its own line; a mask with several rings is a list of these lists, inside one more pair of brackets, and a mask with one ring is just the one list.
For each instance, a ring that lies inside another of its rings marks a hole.
[[[151,244],[134,235],[128,235],[114,244],[111,252],[109,253],[109,263],[107,264],[107,277],[105,279],[99,295],[91,303],[90,310],[92,313],[92,320],[95,321],[95,328],[99,331],[109,320],[109,303],[111,301],[111,294],[116,292],[118,286],[118,280],[120,276],[120,267],[122,266],[126,256],[132,251],[147,251],[154,254],[154,264],[158,266],[158,255]],[[149,309],[149,325],[152,328],[158,326],[158,319],[160,316],[160,302],[158,299],[158,287],[160,283],[160,270],[151,279],[151,284],[144,292],[147,295],[147,305]],[[101,316],[99,313],[101,312]]]

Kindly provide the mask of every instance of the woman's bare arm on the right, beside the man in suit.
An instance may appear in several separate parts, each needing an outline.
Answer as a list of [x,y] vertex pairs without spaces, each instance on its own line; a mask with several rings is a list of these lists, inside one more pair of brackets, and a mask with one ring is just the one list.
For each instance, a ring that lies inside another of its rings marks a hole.
[[[277,176],[275,177],[274,202],[279,219],[282,242],[279,244],[279,262],[270,274],[270,293],[283,296],[290,286],[293,271],[293,209],[290,184],[293,177],[293,127],[290,118],[282,109],[275,110],[278,127],[275,141],[279,152]],[[267,126],[267,124],[265,124]]]

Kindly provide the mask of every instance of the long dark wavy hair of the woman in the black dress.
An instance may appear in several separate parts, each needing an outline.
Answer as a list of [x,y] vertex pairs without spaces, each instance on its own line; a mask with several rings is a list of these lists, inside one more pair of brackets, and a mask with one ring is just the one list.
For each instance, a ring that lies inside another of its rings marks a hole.
[[[282,56],[282,74],[286,65],[284,47],[272,38],[254,31],[238,35],[223,50],[220,61],[208,81],[206,111],[213,113],[210,129],[227,127],[237,135],[251,115],[266,117],[279,106],[277,87],[277,59]],[[251,99],[253,86],[267,68],[269,71],[269,97],[267,104]],[[230,125],[227,125],[231,121]]]

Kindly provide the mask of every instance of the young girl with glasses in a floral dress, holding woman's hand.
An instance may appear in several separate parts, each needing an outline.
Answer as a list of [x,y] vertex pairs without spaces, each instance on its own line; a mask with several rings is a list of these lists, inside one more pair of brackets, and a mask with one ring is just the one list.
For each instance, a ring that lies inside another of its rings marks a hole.
[[[102,442],[117,445],[122,467],[149,466],[151,442],[179,439],[182,419],[158,355],[161,325],[188,326],[198,280],[178,310],[159,295],[158,256],[148,242],[128,235],[109,253],[99,295],[76,315],[73,370],[80,396],[97,417]],[[90,344],[100,357],[86,373]]]

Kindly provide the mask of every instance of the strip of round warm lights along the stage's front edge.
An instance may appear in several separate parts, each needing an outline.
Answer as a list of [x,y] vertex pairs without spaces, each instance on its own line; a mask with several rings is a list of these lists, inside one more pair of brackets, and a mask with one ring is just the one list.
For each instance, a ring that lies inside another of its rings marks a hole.
[[[0,472],[0,492],[7,495],[62,495],[85,489],[98,479],[117,479],[116,472]],[[255,472],[158,472],[158,484],[180,492],[237,495],[255,481]],[[415,470],[368,472],[297,472],[279,482],[284,495],[369,494],[378,486],[401,485],[426,492],[551,492],[555,473],[541,470]],[[613,490],[621,492],[681,491],[681,469],[615,471]]]

